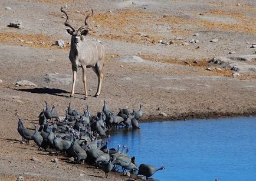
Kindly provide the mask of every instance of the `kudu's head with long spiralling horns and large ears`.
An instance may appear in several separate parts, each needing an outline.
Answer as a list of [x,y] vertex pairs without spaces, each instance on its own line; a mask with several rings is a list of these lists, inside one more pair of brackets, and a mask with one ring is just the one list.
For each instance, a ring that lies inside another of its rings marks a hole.
[[71,45],[72,44],[77,45],[80,41],[84,40],[84,36],[86,36],[88,31],[89,31],[88,30],[88,23],[87,23],[87,21],[88,21],[88,18],[90,18],[90,16],[93,15],[93,9],[91,9],[91,14],[88,14],[86,16],[86,19],[84,20],[84,26],[81,26],[78,29],[75,29],[73,26],[71,26],[68,23],[67,12],[65,12],[63,9],[64,9],[64,7],[61,7],[60,11],[63,12],[67,16],[67,19],[66,19],[64,25],[68,26],[68,28],[71,28],[71,29],[66,29],[67,32],[72,36],[72,38],[71,38]]

